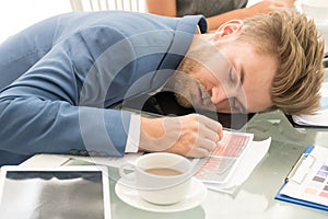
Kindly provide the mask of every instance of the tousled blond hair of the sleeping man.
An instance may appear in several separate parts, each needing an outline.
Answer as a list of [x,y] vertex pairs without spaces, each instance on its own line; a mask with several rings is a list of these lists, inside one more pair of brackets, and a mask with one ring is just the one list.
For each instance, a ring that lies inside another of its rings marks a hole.
[[294,115],[318,110],[324,42],[313,21],[296,11],[255,15],[245,20],[239,39],[254,43],[258,53],[272,55],[279,62],[270,110]]

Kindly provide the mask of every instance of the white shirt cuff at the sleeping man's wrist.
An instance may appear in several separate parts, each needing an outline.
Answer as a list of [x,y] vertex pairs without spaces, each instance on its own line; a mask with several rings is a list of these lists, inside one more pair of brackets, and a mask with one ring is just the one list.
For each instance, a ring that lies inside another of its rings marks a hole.
[[132,114],[126,145],[126,153],[137,153],[140,141],[140,115]]

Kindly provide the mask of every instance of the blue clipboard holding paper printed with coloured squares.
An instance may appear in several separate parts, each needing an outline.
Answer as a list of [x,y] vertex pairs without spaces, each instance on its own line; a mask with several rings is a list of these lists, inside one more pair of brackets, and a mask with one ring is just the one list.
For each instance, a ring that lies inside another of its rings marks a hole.
[[307,147],[276,199],[328,211],[328,148]]

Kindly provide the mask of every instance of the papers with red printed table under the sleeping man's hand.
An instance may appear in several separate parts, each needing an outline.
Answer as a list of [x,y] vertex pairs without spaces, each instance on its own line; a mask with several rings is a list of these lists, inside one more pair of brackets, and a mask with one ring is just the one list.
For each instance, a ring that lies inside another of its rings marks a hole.
[[233,194],[266,157],[271,138],[253,141],[254,135],[224,131],[219,147],[206,159],[194,159],[195,176],[210,189]]

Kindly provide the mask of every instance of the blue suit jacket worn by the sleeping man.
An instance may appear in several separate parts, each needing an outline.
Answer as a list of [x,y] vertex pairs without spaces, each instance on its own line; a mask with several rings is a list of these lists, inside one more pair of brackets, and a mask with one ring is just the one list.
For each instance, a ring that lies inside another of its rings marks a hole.
[[0,45],[0,165],[72,149],[122,155],[130,113],[108,107],[161,88],[197,25],[206,32],[201,15],[80,12],[7,39]]

